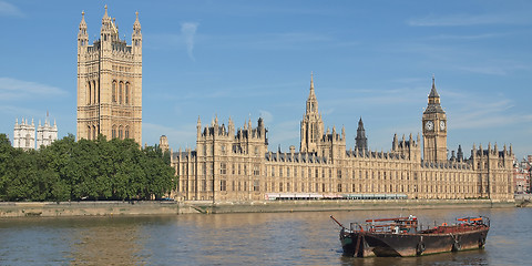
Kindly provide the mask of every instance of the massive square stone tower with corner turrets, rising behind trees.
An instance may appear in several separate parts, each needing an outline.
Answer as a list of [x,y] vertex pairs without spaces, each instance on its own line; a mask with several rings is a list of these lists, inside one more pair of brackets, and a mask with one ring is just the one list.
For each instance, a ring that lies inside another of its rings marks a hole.
[[114,18],[102,18],[100,39],[89,45],[84,12],[78,33],[78,140],[99,134],[142,144],[142,33],[139,13],[132,44],[119,38]]

